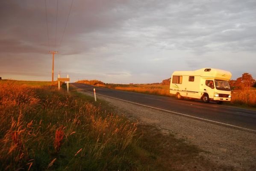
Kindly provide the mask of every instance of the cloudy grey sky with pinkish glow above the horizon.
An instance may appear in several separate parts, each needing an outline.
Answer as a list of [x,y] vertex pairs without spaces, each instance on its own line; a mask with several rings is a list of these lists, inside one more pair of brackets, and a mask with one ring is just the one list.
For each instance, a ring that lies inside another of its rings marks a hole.
[[72,82],[156,83],[199,68],[256,78],[255,9],[256,0],[1,0],[0,77],[50,81],[48,51],[59,51],[55,80],[60,71]]

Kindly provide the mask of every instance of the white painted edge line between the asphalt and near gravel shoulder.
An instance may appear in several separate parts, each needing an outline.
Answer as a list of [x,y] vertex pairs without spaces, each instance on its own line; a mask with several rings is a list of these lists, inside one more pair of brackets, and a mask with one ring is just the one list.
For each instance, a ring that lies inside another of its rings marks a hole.
[[[77,89],[85,91],[85,90],[83,90],[81,88],[77,88]],[[90,91],[86,91],[86,92],[92,93]],[[149,105],[143,105],[143,104],[140,104],[140,103],[135,103],[135,102],[131,102],[131,101],[128,101],[128,100],[122,100],[122,99],[118,99],[118,98],[115,98],[115,97],[106,96],[106,95],[103,95],[103,94],[98,94],[98,95],[104,96],[104,97],[109,97],[109,98],[112,98],[112,99],[115,99],[115,100],[121,100],[121,101],[128,102],[128,103],[133,103],[133,104],[136,104],[136,105],[141,105],[141,106],[148,107],[148,108],[157,109],[157,110],[160,110],[160,111],[167,111],[169,113],[174,113],[174,114],[178,114],[178,115],[181,115],[181,116],[194,118],[194,119],[197,119],[197,120],[203,120],[203,121],[207,121],[207,122],[210,122],[210,123],[216,123],[218,125],[225,125],[225,126],[228,126],[228,127],[238,128],[238,129],[241,129],[241,130],[245,130],[245,131],[250,131],[250,132],[256,133],[256,130],[253,130],[253,129],[243,128],[243,127],[240,127],[240,126],[231,125],[231,124],[227,124],[227,123],[221,123],[221,122],[218,122],[218,121],[208,120],[208,119],[204,119],[204,118],[201,118],[201,117],[194,117],[194,116],[191,116],[191,115],[188,115],[188,114],[182,114],[182,113],[179,113],[179,112],[176,112],[176,111],[169,111],[169,110],[165,110],[165,109],[162,109],[162,108],[156,108],[156,107],[149,106]]]

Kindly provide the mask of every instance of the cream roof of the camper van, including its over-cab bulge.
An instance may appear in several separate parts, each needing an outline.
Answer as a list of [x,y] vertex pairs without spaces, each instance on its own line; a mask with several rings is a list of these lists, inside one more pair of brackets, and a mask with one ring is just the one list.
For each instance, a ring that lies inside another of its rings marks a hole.
[[195,71],[174,71],[173,75],[214,77],[221,80],[230,80],[232,76],[232,74],[229,71],[224,71],[215,68],[201,68]]

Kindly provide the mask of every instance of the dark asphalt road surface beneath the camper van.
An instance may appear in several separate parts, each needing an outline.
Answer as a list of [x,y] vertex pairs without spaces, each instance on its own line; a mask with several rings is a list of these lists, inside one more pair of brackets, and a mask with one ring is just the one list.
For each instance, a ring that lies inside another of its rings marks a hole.
[[160,108],[163,110],[172,111],[174,113],[176,112],[179,114],[188,115],[188,117],[191,116],[202,118],[203,120],[224,123],[224,125],[226,124],[227,126],[234,125],[241,128],[254,130],[256,132],[255,110],[236,108],[227,105],[217,105],[215,103],[203,103],[197,100],[177,100],[172,97],[120,91],[82,83],[72,83],[72,85],[82,89],[83,91],[93,92],[93,88],[96,88],[96,94],[127,100],[154,108]]

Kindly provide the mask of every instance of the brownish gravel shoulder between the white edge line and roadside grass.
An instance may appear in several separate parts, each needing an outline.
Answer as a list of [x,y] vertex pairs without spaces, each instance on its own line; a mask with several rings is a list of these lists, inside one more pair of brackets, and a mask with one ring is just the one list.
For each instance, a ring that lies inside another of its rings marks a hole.
[[[82,92],[82,91],[81,91]],[[83,94],[93,96],[88,92]],[[174,134],[177,138],[197,145],[200,155],[215,163],[234,170],[256,170],[256,134],[206,123],[200,120],[178,116],[168,112],[115,100],[97,95],[116,107],[118,114],[124,114],[130,120],[140,124],[149,124],[160,128],[163,134]]]

